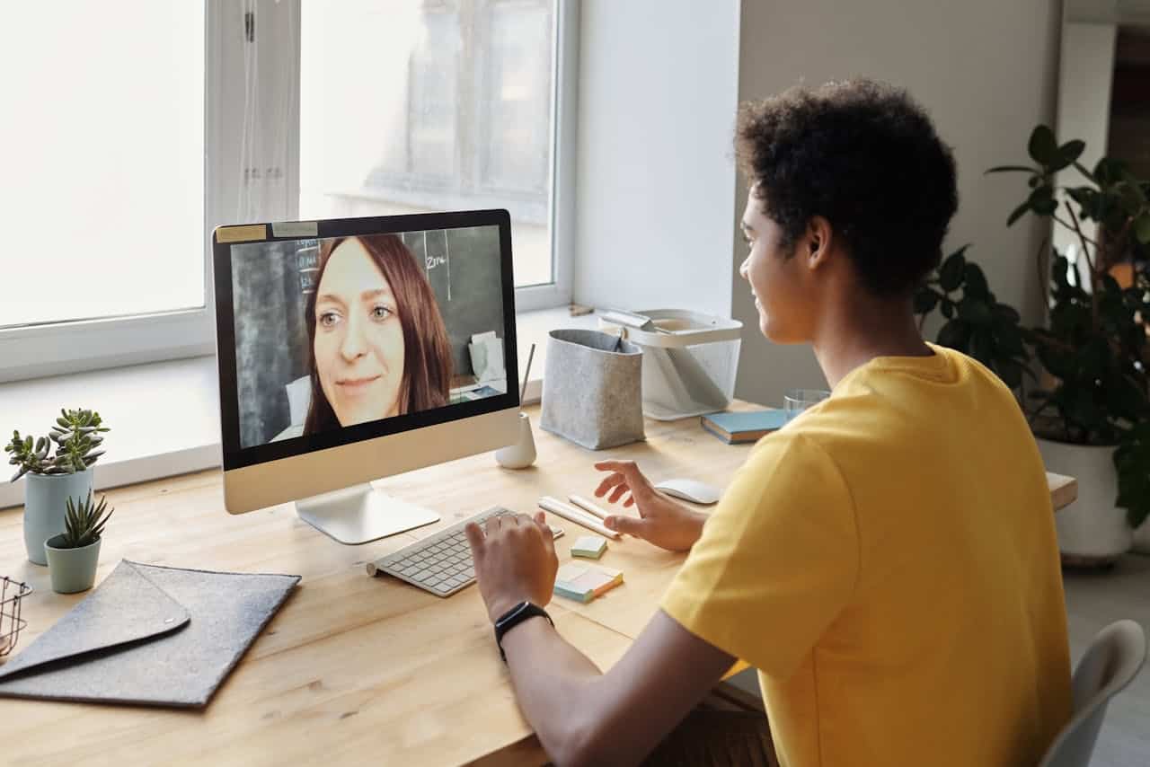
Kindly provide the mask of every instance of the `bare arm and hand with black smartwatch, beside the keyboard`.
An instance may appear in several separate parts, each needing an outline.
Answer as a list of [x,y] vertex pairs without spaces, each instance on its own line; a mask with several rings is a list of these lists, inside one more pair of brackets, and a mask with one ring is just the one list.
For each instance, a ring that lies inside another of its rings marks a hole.
[[[550,601],[558,561],[543,514],[491,517],[467,534],[492,622],[521,601]],[[501,644],[523,715],[558,765],[641,761],[734,662],[662,612],[606,674],[542,616]]]

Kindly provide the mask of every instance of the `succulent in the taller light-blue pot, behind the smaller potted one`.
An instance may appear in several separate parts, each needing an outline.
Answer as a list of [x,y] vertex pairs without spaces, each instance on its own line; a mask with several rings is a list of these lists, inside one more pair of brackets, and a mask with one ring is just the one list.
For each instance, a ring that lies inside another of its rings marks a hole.
[[32,562],[47,565],[44,542],[63,532],[68,499],[80,503],[91,493],[106,431],[99,413],[62,409],[47,437],[12,432],[5,452],[17,467],[12,481],[25,477],[24,546]]

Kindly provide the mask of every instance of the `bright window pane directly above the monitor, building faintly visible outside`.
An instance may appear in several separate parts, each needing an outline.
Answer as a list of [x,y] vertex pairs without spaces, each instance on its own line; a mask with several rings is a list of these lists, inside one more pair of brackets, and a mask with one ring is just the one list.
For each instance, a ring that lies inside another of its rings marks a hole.
[[304,0],[301,217],[507,208],[553,285],[555,0]]

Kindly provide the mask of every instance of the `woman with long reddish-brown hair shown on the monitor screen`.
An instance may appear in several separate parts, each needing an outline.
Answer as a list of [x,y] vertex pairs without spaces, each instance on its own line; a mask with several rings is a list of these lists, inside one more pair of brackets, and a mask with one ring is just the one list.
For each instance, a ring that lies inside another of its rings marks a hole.
[[312,402],[304,434],[447,404],[447,330],[398,236],[321,240],[306,316]]

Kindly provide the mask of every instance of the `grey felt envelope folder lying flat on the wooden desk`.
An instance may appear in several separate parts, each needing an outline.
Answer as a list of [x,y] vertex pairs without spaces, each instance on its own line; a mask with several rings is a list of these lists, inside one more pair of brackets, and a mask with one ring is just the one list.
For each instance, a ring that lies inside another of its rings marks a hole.
[[205,706],[299,580],[122,560],[0,666],[0,697]]

